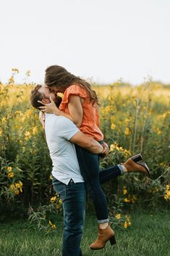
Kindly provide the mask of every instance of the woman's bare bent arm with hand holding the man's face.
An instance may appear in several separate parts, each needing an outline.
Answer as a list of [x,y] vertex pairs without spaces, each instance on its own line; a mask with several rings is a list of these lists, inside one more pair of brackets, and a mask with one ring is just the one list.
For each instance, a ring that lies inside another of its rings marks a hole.
[[55,115],[62,115],[64,117],[69,118],[72,120],[77,127],[80,127],[82,124],[82,115],[83,115],[83,110],[82,110],[82,98],[77,95],[70,95],[69,96],[69,103],[68,103],[68,108],[69,108],[69,114],[64,113],[63,111],[59,110],[58,107],[56,107],[55,102],[53,99],[51,99],[51,103],[45,104],[41,102],[44,107],[39,107],[42,111],[46,113],[51,113]]

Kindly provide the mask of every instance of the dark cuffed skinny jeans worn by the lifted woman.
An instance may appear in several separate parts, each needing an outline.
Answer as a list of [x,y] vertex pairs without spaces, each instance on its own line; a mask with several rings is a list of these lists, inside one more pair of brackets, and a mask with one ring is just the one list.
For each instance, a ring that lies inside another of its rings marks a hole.
[[80,172],[84,178],[87,191],[93,199],[98,223],[108,222],[109,213],[107,202],[105,194],[101,189],[101,184],[121,175],[121,170],[117,165],[114,165],[110,168],[99,171],[98,154],[92,154],[76,144],[75,149],[77,153],[77,160],[80,165]]

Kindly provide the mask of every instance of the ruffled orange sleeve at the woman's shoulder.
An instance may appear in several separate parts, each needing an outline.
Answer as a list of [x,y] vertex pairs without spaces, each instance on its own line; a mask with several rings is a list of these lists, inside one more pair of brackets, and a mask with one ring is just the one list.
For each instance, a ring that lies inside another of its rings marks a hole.
[[69,86],[66,89],[66,91],[64,91],[62,102],[59,106],[60,110],[65,110],[67,108],[67,104],[69,102],[70,95],[77,95],[77,96],[82,97],[83,99],[85,99],[87,97],[87,93],[86,93],[85,89],[82,88],[81,86],[77,86],[75,84],[72,86]]

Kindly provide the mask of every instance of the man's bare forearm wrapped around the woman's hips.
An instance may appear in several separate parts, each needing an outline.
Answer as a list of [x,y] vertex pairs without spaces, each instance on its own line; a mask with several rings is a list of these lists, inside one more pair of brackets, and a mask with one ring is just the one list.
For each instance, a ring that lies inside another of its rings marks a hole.
[[69,141],[78,146],[82,146],[93,154],[101,154],[103,152],[103,146],[101,146],[98,141],[95,141],[95,139],[85,135],[85,133],[82,133],[81,131],[75,133]]

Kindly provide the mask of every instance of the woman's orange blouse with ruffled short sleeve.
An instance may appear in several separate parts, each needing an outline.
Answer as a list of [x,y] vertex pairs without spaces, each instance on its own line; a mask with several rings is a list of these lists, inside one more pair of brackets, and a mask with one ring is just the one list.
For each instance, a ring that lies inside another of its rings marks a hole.
[[66,91],[64,91],[59,109],[69,114],[68,103],[70,95],[77,95],[84,99],[82,103],[83,117],[81,127],[79,127],[80,131],[93,137],[96,141],[103,140],[103,133],[99,129],[98,106],[89,101],[89,96],[84,88],[75,84],[69,86]]

